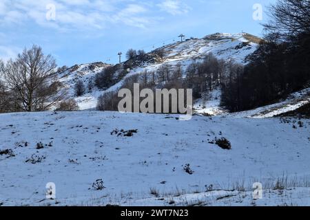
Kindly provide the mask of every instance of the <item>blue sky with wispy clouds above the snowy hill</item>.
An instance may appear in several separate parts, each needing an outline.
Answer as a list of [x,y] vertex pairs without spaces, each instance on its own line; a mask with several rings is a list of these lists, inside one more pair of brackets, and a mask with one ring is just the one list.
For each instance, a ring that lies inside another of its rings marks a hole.
[[[116,63],[118,52],[215,32],[262,36],[267,5],[276,0],[1,0],[0,58],[41,45],[57,64]],[[262,5],[262,21],[253,6]]]

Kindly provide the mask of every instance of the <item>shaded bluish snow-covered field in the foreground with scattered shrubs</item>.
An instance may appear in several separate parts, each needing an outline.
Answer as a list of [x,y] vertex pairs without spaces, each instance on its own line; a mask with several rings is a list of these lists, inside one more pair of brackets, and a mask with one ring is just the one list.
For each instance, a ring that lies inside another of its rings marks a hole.
[[[1,114],[0,206],[310,205],[310,120],[176,117]],[[56,201],[45,199],[49,182]]]

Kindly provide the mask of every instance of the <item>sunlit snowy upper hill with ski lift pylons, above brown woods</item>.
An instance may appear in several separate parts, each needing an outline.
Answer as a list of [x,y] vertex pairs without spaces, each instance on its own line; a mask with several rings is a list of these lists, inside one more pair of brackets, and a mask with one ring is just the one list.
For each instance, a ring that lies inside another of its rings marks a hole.
[[[141,74],[145,70],[156,71],[158,67],[167,63],[175,67],[181,63],[185,70],[187,66],[194,60],[202,60],[206,54],[212,53],[217,58],[223,58],[225,61],[233,59],[237,63],[245,64],[245,58],[253,53],[261,39],[250,34],[211,34],[205,36],[203,39],[187,39],[187,41],[177,42],[156,50],[163,51],[163,59],[161,61],[141,63],[138,67],[128,70],[128,74],[123,80],[134,74]],[[83,65],[75,65],[65,72],[59,74],[61,82],[69,89],[70,97],[74,97],[74,83],[77,80],[83,80],[85,87],[87,87],[90,79],[93,79],[96,73],[101,72],[109,65],[103,63],[90,63]],[[116,85],[107,89],[113,91],[121,87],[123,80],[116,83]],[[92,91],[86,91],[86,94],[76,98],[81,110],[94,109],[96,107],[96,100],[104,91],[96,88]]]

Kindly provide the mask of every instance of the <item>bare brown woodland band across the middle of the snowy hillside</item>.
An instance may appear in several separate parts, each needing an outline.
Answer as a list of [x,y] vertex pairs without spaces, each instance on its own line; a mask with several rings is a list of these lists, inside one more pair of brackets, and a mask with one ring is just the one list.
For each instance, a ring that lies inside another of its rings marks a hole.
[[[209,91],[228,84],[229,80],[232,80],[238,74],[242,74],[242,70],[243,66],[234,61],[219,60],[213,54],[207,54],[202,61],[193,61],[186,69],[183,68],[181,63],[178,63],[176,66],[163,64],[158,67],[156,72],[144,71],[141,74],[127,77],[121,89],[130,89],[133,94],[134,83],[138,83],[140,89],[152,89],[154,94],[156,89],[193,89],[193,98],[196,100],[205,97]],[[104,86],[107,86],[106,82],[112,81],[112,76],[117,76],[115,74],[117,69],[114,69],[114,74],[110,74],[110,71],[111,68],[105,69],[96,77],[96,79],[109,78],[109,80],[103,80],[102,85]],[[99,80],[96,80],[98,87],[100,87],[98,85],[99,82]],[[117,111],[120,100],[121,98],[118,98],[118,91],[110,91],[99,97],[97,109]],[[143,98],[141,98],[142,100]],[[154,107],[156,107],[155,102]]]

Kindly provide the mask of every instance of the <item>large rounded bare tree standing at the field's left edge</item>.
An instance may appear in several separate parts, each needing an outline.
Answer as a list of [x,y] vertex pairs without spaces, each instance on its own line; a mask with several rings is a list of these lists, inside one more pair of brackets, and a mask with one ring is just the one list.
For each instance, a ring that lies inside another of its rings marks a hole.
[[54,58],[37,45],[8,61],[4,78],[14,93],[15,110],[19,105],[23,111],[45,111],[63,99],[65,90],[52,74],[55,67]]

